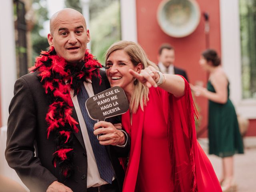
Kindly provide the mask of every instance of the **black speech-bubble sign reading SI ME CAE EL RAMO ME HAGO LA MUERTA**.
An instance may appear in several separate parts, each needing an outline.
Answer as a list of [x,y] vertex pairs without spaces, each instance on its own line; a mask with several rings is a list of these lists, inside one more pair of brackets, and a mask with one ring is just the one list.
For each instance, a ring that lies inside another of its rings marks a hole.
[[85,105],[90,118],[98,121],[124,114],[129,109],[124,90],[118,86],[88,98]]

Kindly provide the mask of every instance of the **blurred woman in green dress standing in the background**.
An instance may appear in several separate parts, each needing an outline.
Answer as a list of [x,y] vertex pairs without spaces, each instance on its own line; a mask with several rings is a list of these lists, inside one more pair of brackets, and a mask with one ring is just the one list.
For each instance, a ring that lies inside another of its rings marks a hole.
[[210,73],[207,89],[192,86],[196,96],[209,100],[208,137],[209,153],[222,158],[223,192],[236,190],[234,183],[234,154],[244,153],[242,137],[238,128],[235,108],[229,99],[228,78],[220,66],[220,58],[215,50],[205,50],[199,60],[204,70]]

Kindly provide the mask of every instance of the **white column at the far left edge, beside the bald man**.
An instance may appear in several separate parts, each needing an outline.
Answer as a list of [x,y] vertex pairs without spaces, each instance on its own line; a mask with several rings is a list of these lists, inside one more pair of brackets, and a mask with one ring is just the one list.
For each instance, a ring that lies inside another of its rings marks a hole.
[[2,126],[7,124],[8,106],[13,97],[16,80],[16,55],[14,39],[13,2],[0,6],[0,102]]

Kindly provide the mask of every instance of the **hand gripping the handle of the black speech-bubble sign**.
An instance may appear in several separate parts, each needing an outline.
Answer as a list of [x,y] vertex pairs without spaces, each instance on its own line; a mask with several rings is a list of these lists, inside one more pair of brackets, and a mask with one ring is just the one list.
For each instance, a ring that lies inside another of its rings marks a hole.
[[99,135],[98,140],[101,145],[124,145],[125,144],[125,136],[122,131],[121,124],[112,124],[106,121],[99,121],[94,124],[94,135]]

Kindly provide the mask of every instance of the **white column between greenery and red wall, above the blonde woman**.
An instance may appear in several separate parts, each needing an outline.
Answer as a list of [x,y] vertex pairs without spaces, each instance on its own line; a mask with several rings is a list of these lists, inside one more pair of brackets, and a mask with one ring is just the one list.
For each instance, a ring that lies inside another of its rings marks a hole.
[[122,40],[137,42],[136,0],[120,0]]

